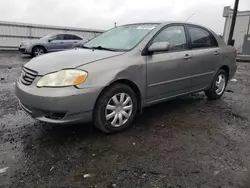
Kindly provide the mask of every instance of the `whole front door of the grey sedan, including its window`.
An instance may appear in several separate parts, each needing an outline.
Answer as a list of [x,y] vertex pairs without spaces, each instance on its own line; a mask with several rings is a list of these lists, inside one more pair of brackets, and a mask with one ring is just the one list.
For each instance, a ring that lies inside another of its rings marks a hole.
[[[187,49],[183,25],[164,28],[151,42],[168,42],[169,51],[147,56],[147,102],[168,98],[189,91],[190,50]],[[151,45],[151,44],[150,44]]]

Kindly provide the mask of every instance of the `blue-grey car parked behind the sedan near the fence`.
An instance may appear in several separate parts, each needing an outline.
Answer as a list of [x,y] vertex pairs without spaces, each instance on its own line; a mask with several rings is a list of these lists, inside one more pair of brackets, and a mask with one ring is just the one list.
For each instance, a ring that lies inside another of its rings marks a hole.
[[19,51],[23,54],[29,54],[32,57],[43,55],[48,52],[56,52],[71,49],[75,44],[79,43],[84,37],[71,34],[49,34],[40,39],[24,41],[20,44]]

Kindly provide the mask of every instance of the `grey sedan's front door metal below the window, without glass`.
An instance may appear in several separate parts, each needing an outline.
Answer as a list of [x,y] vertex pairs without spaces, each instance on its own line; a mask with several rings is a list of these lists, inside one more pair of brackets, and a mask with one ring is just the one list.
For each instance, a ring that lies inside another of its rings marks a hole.
[[193,62],[191,51],[154,54],[147,57],[147,102],[190,91]]

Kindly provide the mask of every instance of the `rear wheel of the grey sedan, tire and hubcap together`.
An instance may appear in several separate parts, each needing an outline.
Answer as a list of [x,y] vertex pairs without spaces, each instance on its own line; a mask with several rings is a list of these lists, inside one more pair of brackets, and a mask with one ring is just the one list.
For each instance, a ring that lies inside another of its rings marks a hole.
[[[221,82],[221,85],[218,86],[218,82],[219,82],[220,78],[225,79],[225,82],[224,83]],[[214,78],[214,80],[213,80],[213,82],[211,84],[210,89],[205,91],[205,94],[206,94],[207,98],[209,100],[216,100],[216,99],[221,98],[221,96],[225,92],[225,89],[227,87],[227,83],[228,83],[228,75],[227,75],[225,70],[220,69],[217,72],[217,74],[216,74],[216,76],[215,76],[215,78]],[[224,85],[224,86],[222,86],[222,85]],[[219,90],[219,87],[221,88],[221,90]]]

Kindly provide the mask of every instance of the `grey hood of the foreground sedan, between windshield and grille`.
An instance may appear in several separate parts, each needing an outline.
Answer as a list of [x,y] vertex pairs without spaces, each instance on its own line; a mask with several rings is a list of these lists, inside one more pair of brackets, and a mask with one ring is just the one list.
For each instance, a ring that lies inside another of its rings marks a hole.
[[44,75],[62,69],[76,68],[84,64],[112,58],[124,53],[125,52],[105,50],[73,49],[33,58],[24,66],[28,69],[37,71],[38,75]]

